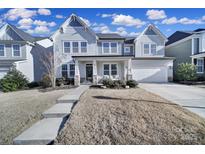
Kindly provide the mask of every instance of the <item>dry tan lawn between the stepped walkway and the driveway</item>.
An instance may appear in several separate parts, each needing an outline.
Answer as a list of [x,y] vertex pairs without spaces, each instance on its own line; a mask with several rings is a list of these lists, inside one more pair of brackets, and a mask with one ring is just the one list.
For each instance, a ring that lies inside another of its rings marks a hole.
[[89,89],[55,144],[205,144],[205,119],[137,89]]

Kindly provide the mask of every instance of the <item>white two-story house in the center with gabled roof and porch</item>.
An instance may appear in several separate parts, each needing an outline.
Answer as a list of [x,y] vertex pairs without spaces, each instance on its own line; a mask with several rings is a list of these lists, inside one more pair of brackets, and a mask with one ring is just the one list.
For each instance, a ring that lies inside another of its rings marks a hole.
[[50,37],[56,58],[56,77],[80,83],[102,79],[134,79],[139,82],[172,80],[173,58],[165,57],[167,38],[149,25],[138,37],[95,33],[72,14]]

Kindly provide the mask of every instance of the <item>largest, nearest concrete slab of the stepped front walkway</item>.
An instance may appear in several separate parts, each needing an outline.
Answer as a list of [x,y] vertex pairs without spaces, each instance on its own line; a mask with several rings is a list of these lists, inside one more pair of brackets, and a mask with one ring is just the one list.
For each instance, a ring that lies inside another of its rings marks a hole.
[[64,118],[45,118],[24,131],[14,139],[14,144],[46,145],[57,137]]

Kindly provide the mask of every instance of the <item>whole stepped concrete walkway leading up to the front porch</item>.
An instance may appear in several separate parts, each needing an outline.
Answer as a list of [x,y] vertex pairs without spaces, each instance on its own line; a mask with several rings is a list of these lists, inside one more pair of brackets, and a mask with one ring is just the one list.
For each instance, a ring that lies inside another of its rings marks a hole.
[[68,95],[59,98],[54,106],[46,110],[42,115],[44,119],[35,123],[14,139],[14,144],[19,145],[45,145],[51,144],[68,119],[75,103],[89,88],[81,85],[73,89]]

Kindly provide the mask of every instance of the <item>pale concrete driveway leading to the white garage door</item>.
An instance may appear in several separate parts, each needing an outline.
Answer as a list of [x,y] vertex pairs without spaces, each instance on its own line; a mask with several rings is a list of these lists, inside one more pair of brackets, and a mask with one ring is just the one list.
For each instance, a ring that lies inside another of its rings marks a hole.
[[205,90],[202,88],[174,83],[141,83],[139,86],[205,118]]

